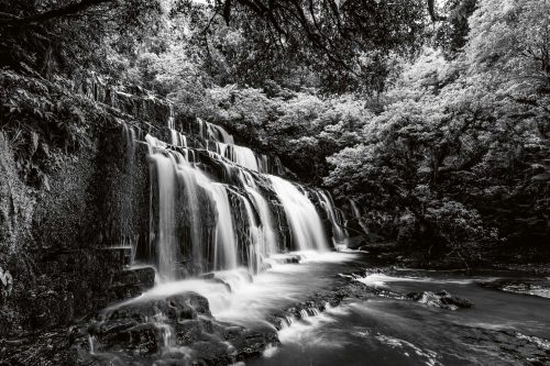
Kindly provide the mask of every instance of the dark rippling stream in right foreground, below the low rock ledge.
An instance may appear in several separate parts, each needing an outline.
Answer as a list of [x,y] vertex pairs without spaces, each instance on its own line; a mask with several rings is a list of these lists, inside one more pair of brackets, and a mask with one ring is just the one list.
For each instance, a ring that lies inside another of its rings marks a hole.
[[[546,365],[550,299],[490,290],[494,276],[409,270],[367,276],[404,293],[447,290],[474,303],[458,311],[373,297],[346,299],[279,332],[282,345],[249,365]],[[549,279],[539,281],[550,287]]]

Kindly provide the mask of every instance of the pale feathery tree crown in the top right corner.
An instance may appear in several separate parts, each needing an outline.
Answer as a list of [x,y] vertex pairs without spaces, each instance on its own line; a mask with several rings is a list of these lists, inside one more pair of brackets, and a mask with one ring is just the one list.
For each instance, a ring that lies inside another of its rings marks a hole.
[[501,93],[531,98],[550,92],[548,14],[548,0],[482,1],[469,21],[470,71],[484,75]]

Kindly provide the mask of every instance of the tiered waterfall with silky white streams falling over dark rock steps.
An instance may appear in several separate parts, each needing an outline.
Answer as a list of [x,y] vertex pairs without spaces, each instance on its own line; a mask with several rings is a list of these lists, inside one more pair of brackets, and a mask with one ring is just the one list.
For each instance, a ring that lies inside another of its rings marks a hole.
[[[167,124],[169,143],[144,138],[150,240],[135,258],[155,266],[161,281],[239,267],[257,273],[287,249],[328,251],[346,237],[328,193],[271,175],[285,171],[278,158],[235,145],[206,121],[184,124],[182,133],[172,110]],[[331,222],[331,241],[318,209]]]

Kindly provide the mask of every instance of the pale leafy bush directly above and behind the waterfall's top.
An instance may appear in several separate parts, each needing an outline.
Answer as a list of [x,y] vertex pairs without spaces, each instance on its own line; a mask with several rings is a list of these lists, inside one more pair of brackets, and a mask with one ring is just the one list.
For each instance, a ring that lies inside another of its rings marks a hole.
[[[223,124],[241,144],[278,155],[305,180],[321,182],[326,158],[360,141],[372,113],[354,96],[322,98],[294,92],[270,80],[263,89],[235,86],[208,90],[210,107],[199,117]],[[271,97],[268,97],[271,96]]]

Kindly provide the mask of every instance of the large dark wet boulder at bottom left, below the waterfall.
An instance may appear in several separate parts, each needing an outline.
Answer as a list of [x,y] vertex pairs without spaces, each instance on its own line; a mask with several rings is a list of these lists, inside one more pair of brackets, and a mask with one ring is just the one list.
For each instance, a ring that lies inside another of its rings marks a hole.
[[272,326],[217,321],[208,300],[190,291],[122,303],[75,328],[69,339],[73,354],[89,365],[103,365],[97,355],[128,364],[229,365],[278,343]]

